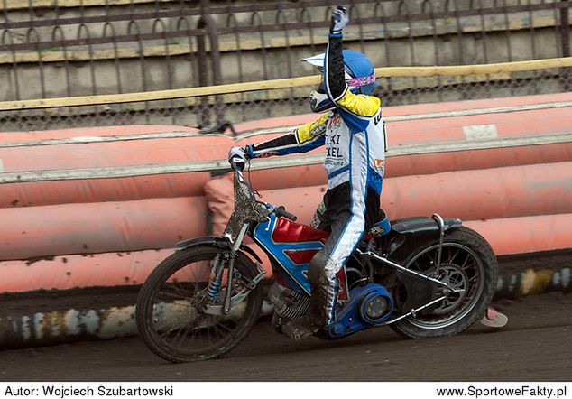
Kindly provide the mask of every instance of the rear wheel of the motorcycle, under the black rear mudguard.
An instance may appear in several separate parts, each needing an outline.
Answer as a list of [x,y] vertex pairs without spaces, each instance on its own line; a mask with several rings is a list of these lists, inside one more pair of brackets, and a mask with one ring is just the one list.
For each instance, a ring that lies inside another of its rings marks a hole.
[[[404,337],[420,339],[446,337],[468,329],[483,317],[493,299],[498,264],[493,248],[484,237],[468,227],[447,232],[436,274],[438,241],[420,247],[405,262],[406,267],[431,275],[463,292],[447,293],[446,299],[428,313],[410,316],[393,323],[392,329]],[[404,302],[407,292],[398,285],[395,296]],[[438,296],[444,295],[442,292]]]

